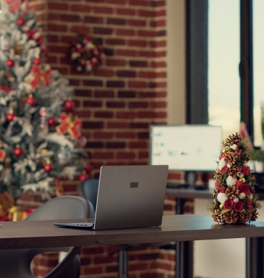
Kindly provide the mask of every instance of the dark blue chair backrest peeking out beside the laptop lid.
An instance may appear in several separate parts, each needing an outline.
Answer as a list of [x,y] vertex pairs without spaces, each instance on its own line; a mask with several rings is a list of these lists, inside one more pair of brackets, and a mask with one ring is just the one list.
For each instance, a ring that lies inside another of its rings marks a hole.
[[98,179],[89,179],[81,182],[77,188],[78,195],[90,201],[93,204],[94,210],[96,210],[98,185]]

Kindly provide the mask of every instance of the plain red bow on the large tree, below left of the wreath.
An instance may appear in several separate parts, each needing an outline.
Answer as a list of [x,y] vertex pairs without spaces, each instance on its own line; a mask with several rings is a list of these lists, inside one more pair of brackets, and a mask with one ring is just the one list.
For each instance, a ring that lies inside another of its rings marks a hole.
[[36,89],[41,82],[44,83],[46,87],[49,86],[49,83],[51,83],[51,68],[49,68],[48,65],[44,67],[34,64],[31,68],[31,74],[33,78],[29,81],[29,83],[34,89]]

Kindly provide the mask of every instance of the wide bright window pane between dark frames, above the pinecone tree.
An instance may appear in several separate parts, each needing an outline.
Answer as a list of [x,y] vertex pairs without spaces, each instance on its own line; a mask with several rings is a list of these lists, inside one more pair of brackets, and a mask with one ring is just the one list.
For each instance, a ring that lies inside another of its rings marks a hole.
[[240,127],[240,1],[209,1],[208,115],[223,138]]

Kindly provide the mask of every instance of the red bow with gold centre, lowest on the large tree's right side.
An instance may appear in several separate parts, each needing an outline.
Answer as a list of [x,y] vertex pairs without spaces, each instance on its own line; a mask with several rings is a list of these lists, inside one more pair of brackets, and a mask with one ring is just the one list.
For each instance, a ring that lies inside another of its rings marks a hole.
[[56,126],[56,130],[59,134],[69,133],[71,139],[76,139],[81,136],[81,120],[78,119],[78,116],[73,116],[71,114],[67,115],[66,113],[61,113],[59,118],[59,125]]

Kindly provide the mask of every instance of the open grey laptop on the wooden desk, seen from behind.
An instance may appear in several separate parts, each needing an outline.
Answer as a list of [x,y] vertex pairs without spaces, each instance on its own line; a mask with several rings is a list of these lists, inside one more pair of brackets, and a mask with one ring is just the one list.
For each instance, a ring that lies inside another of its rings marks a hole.
[[168,165],[102,166],[95,219],[54,223],[111,230],[161,225]]

